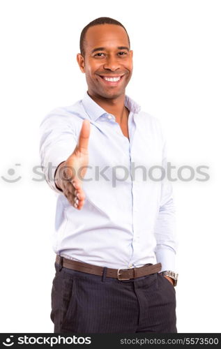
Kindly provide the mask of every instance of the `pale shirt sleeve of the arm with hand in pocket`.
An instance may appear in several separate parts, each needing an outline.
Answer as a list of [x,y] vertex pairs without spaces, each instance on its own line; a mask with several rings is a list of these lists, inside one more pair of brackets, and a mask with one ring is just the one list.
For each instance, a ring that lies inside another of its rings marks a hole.
[[[163,137],[163,136],[162,136]],[[172,182],[167,178],[167,142],[163,138],[162,168],[165,178],[161,181],[160,208],[155,223],[155,238],[157,245],[155,256],[161,262],[161,272],[176,271],[176,251],[178,237],[176,233],[176,209]]]

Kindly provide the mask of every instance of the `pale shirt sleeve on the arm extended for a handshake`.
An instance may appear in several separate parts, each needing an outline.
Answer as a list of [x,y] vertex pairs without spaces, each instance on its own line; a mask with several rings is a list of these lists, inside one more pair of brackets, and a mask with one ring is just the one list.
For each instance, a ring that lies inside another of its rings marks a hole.
[[73,153],[77,141],[73,121],[59,108],[50,112],[40,124],[40,166],[45,180],[56,193],[54,174],[60,163]]

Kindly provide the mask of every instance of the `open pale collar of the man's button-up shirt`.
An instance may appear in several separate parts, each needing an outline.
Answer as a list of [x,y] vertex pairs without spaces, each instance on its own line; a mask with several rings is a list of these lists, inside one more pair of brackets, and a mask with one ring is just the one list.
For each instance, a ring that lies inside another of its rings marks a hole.
[[[93,99],[89,96],[87,92],[84,94],[82,104],[86,113],[93,121],[96,121],[96,119],[98,119],[98,117],[101,117],[103,114],[108,114],[106,110],[104,110],[102,107],[100,107],[100,105],[98,105],[98,103],[93,101]],[[127,95],[125,95],[124,104],[125,107],[127,107],[128,110],[130,110],[130,112],[134,112],[135,114],[139,113],[140,106]]]

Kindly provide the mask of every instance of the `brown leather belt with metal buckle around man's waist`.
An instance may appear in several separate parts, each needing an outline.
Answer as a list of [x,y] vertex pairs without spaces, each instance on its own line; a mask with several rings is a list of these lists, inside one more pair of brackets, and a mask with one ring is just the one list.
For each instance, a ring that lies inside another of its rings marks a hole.
[[[91,265],[88,263],[70,260],[68,258],[61,257],[60,255],[56,255],[56,263],[60,265],[60,267],[73,269],[77,270],[78,272],[84,272],[98,276],[102,276],[105,269],[104,267],[98,267],[98,265]],[[141,276],[146,276],[154,274],[156,272],[160,272],[161,268],[161,263],[157,263],[155,265],[146,264],[143,267],[129,269],[106,268],[106,277],[119,280],[137,279]]]

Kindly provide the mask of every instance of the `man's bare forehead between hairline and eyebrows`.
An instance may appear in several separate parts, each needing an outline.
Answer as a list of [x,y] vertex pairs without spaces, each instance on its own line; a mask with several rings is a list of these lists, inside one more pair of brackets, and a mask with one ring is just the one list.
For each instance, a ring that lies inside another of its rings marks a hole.
[[123,27],[116,24],[99,24],[86,31],[84,47],[93,50],[95,47],[128,46],[128,35]]

